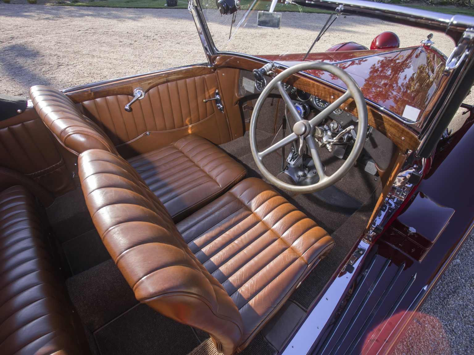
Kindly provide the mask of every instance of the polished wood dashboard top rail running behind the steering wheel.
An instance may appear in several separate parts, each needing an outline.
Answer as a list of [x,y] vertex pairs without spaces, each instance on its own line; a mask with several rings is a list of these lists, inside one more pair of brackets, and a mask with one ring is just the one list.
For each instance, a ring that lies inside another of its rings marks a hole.
[[[220,54],[212,57],[212,62],[216,69],[219,68],[237,68],[252,71],[261,68],[264,62],[256,60],[241,58],[233,55]],[[274,70],[276,74],[282,72],[280,69]],[[312,95],[322,98],[323,100],[332,102],[342,94],[342,90],[334,89],[316,80],[311,80],[300,74],[293,74],[285,80],[286,83],[294,86],[297,89],[309,92]],[[357,108],[355,101],[348,99],[341,108],[351,115],[357,116]],[[412,132],[410,128],[398,122],[395,118],[379,112],[376,108],[367,104],[368,121],[377,131],[383,133],[401,150],[416,150],[419,146],[419,139],[416,133]]]

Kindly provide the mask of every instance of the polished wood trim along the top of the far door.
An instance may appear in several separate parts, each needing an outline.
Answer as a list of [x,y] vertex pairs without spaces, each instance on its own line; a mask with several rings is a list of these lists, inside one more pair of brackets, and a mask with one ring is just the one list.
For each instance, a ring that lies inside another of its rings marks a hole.
[[140,87],[148,90],[168,82],[194,78],[214,72],[214,68],[206,65],[194,65],[186,68],[171,69],[159,73],[146,74],[134,78],[117,80],[109,84],[98,84],[87,89],[78,89],[68,92],[66,95],[75,103],[105,98],[108,96],[128,95],[133,96],[133,90]]

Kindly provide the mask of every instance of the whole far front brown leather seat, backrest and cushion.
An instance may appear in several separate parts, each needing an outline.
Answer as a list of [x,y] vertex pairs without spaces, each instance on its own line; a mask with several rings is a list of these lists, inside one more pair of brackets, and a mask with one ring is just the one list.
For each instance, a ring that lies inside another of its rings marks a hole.
[[[36,85],[31,87],[30,97],[38,115],[69,151],[79,155],[88,149],[103,149],[118,155],[109,137],[62,92]],[[246,176],[242,165],[196,135],[128,161],[175,221],[198,210]]]

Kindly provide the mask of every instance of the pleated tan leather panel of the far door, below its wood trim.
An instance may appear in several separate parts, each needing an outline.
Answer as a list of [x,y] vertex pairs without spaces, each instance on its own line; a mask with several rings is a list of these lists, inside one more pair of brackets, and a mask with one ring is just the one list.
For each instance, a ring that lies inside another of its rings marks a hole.
[[[139,83],[137,83],[138,87]],[[124,106],[128,95],[113,95],[82,102],[84,115],[95,121],[124,157],[153,151],[194,133],[215,144],[231,140],[226,113],[217,109],[217,73],[165,82],[146,92],[145,98]]]

